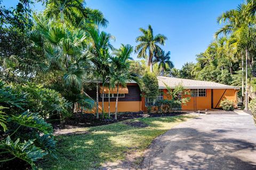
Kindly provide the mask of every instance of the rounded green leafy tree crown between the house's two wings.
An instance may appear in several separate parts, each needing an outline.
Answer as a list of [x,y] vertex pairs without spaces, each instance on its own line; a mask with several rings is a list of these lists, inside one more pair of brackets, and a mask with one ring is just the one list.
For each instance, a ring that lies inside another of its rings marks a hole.
[[146,72],[142,77],[142,96],[154,99],[158,95],[158,80],[154,73]]

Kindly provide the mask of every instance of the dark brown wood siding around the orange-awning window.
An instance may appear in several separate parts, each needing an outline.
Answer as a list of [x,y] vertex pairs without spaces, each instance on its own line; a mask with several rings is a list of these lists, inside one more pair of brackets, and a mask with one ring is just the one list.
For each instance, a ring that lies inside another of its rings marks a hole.
[[[134,85],[127,85],[127,88],[129,90],[128,94],[125,94],[125,97],[119,97],[118,101],[141,101],[141,92],[138,84]],[[86,93],[96,100],[96,89],[86,91]],[[99,101],[102,101],[101,95],[99,93]],[[108,98],[104,98],[104,101],[108,101]],[[110,98],[110,101],[116,101],[116,98]]]

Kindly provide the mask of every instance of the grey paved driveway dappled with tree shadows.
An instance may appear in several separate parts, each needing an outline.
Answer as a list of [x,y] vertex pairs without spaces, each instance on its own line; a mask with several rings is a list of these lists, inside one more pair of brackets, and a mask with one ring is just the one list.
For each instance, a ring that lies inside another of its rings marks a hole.
[[143,169],[256,169],[251,115],[204,115],[158,137]]

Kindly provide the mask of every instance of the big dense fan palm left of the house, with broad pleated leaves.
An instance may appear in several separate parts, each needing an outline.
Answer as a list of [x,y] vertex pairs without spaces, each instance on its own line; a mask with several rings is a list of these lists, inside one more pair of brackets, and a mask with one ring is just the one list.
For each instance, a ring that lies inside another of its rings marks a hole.
[[34,45],[43,52],[43,59],[37,65],[38,71],[54,79],[46,84],[59,91],[67,100],[84,108],[92,108],[93,101],[84,93],[83,85],[89,61],[93,57],[86,48],[84,31],[70,31],[54,20],[38,18],[36,29],[30,33]]

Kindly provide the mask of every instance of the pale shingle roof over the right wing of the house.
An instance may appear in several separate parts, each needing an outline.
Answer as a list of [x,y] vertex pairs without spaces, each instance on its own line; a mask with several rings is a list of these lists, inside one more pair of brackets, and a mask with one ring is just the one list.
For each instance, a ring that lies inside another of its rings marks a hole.
[[181,84],[185,89],[240,89],[235,86],[228,86],[226,84],[215,83],[211,81],[200,81],[200,80],[190,80],[190,79],[179,79],[170,77],[157,77],[159,89],[166,89],[167,86],[174,88],[175,86]]

